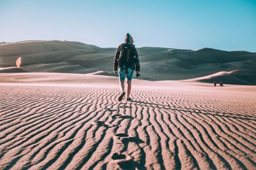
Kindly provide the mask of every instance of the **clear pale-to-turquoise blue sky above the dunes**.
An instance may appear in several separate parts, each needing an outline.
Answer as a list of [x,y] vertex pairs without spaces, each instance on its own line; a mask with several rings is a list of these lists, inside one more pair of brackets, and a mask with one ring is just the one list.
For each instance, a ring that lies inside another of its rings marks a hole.
[[0,41],[68,40],[256,52],[256,0],[0,0]]

